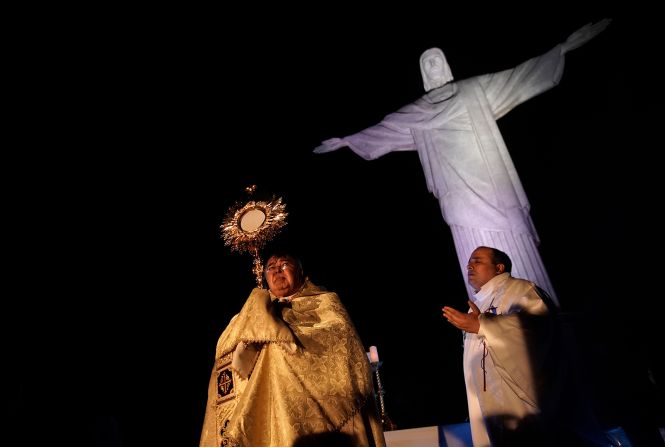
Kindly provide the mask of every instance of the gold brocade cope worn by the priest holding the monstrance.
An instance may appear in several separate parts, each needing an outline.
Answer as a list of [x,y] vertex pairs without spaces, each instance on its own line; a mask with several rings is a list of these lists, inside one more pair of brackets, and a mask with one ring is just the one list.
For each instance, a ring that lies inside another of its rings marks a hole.
[[217,343],[200,447],[291,447],[330,433],[384,447],[371,374],[337,294],[306,281],[280,303],[256,288]]

